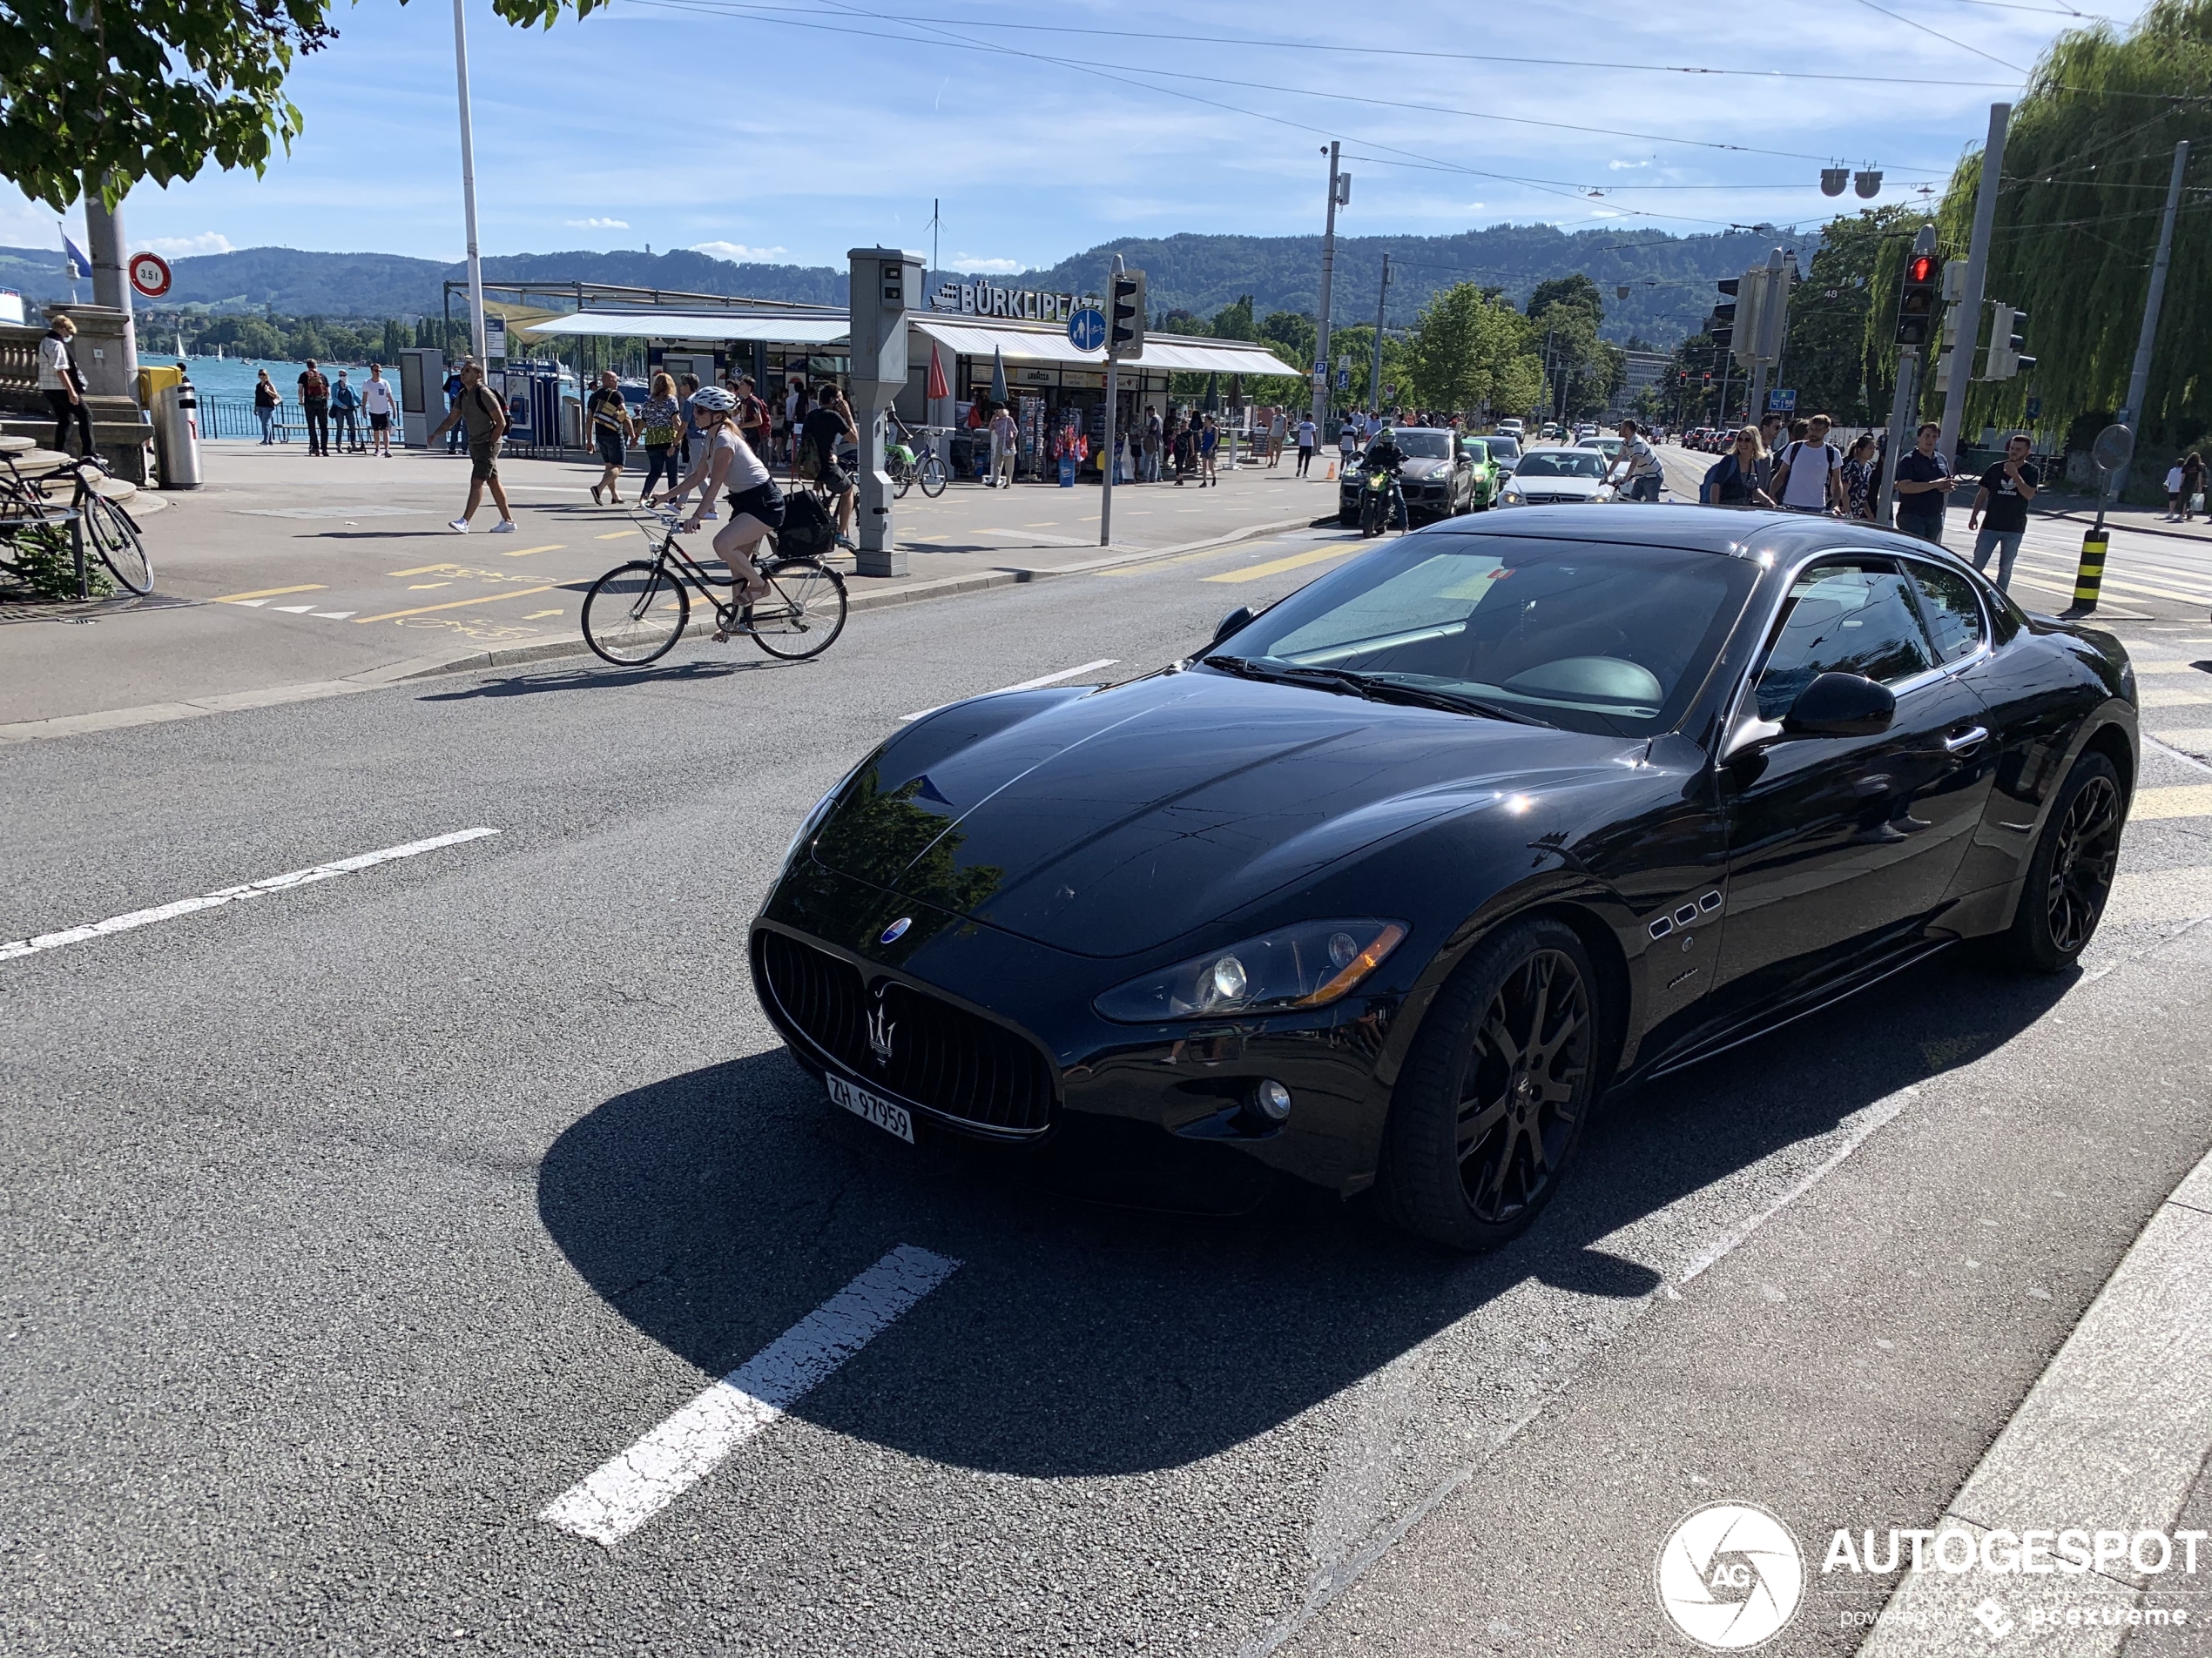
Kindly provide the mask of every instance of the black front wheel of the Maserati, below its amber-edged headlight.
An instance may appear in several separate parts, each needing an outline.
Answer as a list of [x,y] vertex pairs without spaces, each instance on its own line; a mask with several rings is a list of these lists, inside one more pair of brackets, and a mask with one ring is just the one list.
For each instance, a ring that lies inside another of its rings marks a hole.
[[1506,926],[1438,990],[1383,1130],[1391,1222],[1495,1249],[1551,1203],[1597,1101],[1599,986],[1582,937]]

